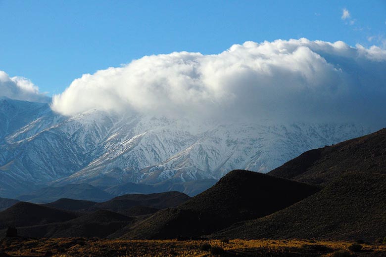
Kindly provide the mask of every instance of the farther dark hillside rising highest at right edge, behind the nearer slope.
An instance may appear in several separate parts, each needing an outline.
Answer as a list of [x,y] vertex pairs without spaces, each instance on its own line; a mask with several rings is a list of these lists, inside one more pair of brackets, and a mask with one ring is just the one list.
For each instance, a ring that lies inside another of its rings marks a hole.
[[386,174],[386,129],[307,151],[268,174],[322,184],[347,172]]

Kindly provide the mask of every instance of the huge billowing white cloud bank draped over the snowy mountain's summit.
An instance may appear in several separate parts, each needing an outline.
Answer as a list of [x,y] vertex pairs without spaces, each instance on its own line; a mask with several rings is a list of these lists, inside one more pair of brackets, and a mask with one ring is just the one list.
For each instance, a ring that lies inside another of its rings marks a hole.
[[343,42],[277,40],[235,44],[213,55],[173,52],[85,74],[52,109],[384,122],[386,51]]

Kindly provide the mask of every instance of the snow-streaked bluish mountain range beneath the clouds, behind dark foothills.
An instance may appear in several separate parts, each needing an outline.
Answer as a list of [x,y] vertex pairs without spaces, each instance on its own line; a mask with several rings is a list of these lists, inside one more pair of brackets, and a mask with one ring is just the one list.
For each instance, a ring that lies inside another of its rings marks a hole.
[[200,122],[0,99],[0,196],[40,184],[156,183],[267,172],[317,147],[370,132],[352,124]]

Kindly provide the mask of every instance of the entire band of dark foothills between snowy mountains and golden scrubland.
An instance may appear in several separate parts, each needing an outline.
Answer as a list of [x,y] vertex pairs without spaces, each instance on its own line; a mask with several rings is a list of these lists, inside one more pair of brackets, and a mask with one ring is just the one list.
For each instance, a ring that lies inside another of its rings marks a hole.
[[385,156],[381,129],[307,151],[267,174],[230,171],[193,198],[165,192],[101,203],[18,202],[0,212],[0,232],[15,226],[24,237],[375,242],[386,229]]

